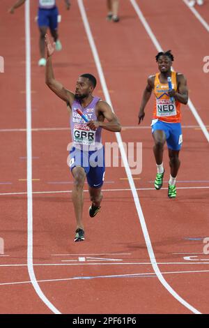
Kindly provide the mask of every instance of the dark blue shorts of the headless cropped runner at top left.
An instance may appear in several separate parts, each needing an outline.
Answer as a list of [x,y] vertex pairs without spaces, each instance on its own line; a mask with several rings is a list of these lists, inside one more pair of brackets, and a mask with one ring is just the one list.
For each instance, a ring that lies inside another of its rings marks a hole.
[[58,15],[59,12],[57,7],[52,9],[38,8],[38,26],[49,27],[51,31],[54,31],[54,29],[57,29],[58,27]]

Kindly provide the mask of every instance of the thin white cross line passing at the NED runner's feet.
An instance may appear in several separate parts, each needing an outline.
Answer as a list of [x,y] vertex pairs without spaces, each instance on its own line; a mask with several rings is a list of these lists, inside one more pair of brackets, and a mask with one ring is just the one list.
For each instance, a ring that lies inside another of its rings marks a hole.
[[[178,187],[178,189],[184,189],[184,190],[189,190],[189,189],[208,189],[209,186],[196,186],[196,187]],[[161,190],[166,191],[167,188],[161,188]],[[118,188],[118,189],[102,189],[102,192],[106,191],[132,191],[130,188]],[[155,188],[136,188],[136,191],[155,191]],[[33,191],[34,195],[42,195],[42,194],[53,194],[53,193],[72,193],[72,191]],[[84,193],[88,193],[87,190],[84,190]],[[22,193],[0,193],[0,196],[10,196],[10,195],[27,195],[26,192]]]

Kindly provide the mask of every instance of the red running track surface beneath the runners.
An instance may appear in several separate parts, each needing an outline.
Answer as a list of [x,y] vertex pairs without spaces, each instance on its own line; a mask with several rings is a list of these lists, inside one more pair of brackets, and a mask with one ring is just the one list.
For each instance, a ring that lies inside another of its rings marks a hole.
[[[6,73],[1,74],[1,238],[7,255],[0,257],[0,312],[52,313],[36,294],[27,270],[24,9],[13,17],[5,15],[9,2],[13,3],[3,0],[0,34],[5,45],[1,55],[6,59]],[[202,70],[208,33],[183,1],[178,0],[176,6],[163,0],[161,8],[157,1],[139,2],[160,45],[173,51],[174,68],[186,75],[196,110],[209,126],[208,75]],[[121,1],[119,24],[106,22],[102,0],[85,0],[84,7],[111,102],[123,125],[123,142],[143,142],[143,170],[134,176],[134,183],[140,189],[137,193],[158,267],[185,302],[208,313],[209,257],[199,254],[203,253],[203,238],[208,237],[208,142],[189,107],[184,106],[178,197],[167,198],[167,183],[160,192],[153,189],[152,103],[140,127],[137,112],[146,77],[157,69],[157,50],[129,0]],[[70,13],[61,5],[60,10],[63,51],[54,55],[56,78],[73,90],[78,75],[91,72],[98,77],[95,94],[104,98],[77,2]],[[66,165],[68,114],[65,104],[45,87],[44,70],[37,66],[35,16],[36,1],[31,1],[33,268],[42,292],[60,313],[192,313],[153,271],[123,167],[107,168],[102,211],[93,220],[87,215],[85,193],[86,240],[73,242],[72,177]],[[116,136],[104,132],[103,141],[116,142]],[[167,181],[166,152],[164,163]]]

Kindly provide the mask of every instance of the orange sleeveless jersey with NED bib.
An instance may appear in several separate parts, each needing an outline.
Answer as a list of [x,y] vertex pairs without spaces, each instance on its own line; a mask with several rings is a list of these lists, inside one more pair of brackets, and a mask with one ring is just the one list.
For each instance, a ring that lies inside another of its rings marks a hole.
[[[160,83],[160,73],[155,74],[155,106],[153,112],[153,119],[160,119],[167,123],[179,123],[181,119],[180,103],[176,100],[171,102],[169,97],[169,84]],[[176,72],[171,72],[171,83],[175,91],[177,91]]]

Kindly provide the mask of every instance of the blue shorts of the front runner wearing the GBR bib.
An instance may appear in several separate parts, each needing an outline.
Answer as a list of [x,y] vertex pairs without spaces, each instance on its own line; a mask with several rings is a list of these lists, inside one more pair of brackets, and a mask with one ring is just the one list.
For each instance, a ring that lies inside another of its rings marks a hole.
[[76,166],[84,167],[88,186],[100,188],[104,182],[104,147],[96,151],[83,151],[72,147],[70,150],[70,170]]

